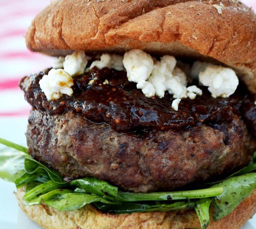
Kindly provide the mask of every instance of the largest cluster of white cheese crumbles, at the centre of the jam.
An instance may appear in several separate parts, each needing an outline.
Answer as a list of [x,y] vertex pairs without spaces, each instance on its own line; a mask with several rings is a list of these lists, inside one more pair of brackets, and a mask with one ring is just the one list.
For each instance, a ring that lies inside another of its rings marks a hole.
[[146,52],[135,49],[125,53],[123,63],[128,80],[137,83],[137,88],[142,89],[146,97],[157,95],[163,98],[166,90],[177,99],[188,96],[194,99],[202,93],[197,87],[193,91],[195,86],[190,88],[191,91],[187,90],[187,76],[176,67],[173,56],[165,55],[157,61]]

